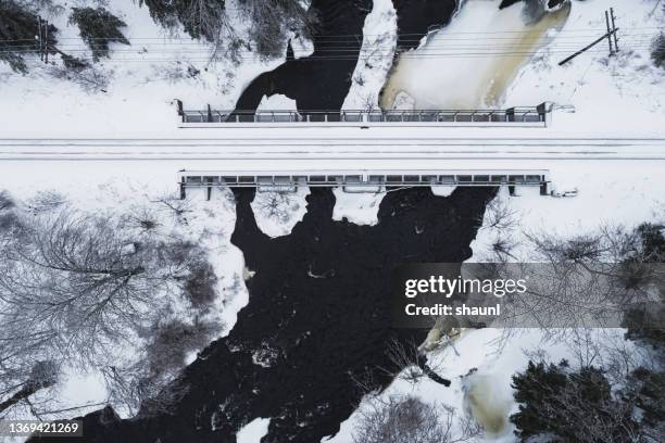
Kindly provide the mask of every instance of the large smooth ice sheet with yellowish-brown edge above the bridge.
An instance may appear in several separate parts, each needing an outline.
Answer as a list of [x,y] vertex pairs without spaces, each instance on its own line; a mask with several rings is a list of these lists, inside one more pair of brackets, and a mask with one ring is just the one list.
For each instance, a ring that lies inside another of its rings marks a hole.
[[466,1],[449,26],[400,56],[381,107],[392,109],[403,91],[421,110],[500,104],[518,68],[547,42],[551,29],[563,26],[569,11],[566,3],[527,25],[520,4],[500,10],[499,0]]

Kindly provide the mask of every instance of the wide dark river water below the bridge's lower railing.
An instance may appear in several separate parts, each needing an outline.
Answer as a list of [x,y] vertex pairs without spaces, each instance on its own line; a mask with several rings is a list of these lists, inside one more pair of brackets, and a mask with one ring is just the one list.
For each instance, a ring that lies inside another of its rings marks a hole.
[[449,198],[396,190],[371,227],[332,220],[332,191],[312,189],[304,219],[277,239],[256,227],[253,190],[235,194],[231,241],[256,273],[235,328],[164,392],[181,394],[167,413],[145,407],[118,420],[110,408],[98,412],[85,418],[77,442],[235,442],[258,417],[271,418],[264,443],[335,434],[365,393],[359,380],[380,390],[401,369],[387,355],[391,343],[418,344],[427,334],[391,328],[393,269],[467,260],[494,190],[459,188]]

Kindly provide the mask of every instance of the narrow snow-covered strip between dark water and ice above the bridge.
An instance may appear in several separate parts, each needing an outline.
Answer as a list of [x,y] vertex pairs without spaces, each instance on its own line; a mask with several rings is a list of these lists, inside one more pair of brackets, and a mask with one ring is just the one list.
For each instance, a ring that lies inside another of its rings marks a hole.
[[363,46],[343,109],[372,110],[378,107],[379,92],[392,67],[397,34],[397,13],[392,1],[374,0],[374,8],[365,18]]

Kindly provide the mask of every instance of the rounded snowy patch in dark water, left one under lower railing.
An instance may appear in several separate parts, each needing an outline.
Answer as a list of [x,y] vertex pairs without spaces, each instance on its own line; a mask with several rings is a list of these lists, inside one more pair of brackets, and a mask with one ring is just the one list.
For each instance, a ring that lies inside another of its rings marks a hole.
[[288,236],[308,212],[309,194],[308,187],[298,187],[296,192],[256,192],[252,201],[256,225],[266,236]]

